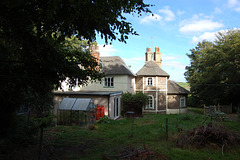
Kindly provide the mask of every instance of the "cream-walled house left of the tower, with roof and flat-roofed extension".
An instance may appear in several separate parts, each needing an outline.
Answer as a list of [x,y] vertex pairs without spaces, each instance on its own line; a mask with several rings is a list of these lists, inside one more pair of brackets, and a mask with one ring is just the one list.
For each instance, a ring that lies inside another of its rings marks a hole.
[[92,56],[100,60],[101,72],[105,74],[102,81],[90,82],[87,86],[73,86],[62,83],[62,89],[54,92],[55,114],[60,102],[65,97],[92,98],[95,104],[104,105],[105,115],[117,119],[121,111],[123,92],[135,91],[135,74],[119,56],[100,57],[96,47],[91,47]]

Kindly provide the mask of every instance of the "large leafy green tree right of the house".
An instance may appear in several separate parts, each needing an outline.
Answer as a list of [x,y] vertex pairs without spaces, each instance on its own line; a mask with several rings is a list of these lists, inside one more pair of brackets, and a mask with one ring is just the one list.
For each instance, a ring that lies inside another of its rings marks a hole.
[[185,76],[198,103],[240,103],[240,30],[218,33],[191,49]]

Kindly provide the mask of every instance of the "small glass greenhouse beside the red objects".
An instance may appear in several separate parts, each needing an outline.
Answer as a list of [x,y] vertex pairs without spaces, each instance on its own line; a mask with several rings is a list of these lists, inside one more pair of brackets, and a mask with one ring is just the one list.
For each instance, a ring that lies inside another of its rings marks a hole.
[[96,122],[96,107],[91,98],[63,98],[58,107],[60,125],[87,125]]

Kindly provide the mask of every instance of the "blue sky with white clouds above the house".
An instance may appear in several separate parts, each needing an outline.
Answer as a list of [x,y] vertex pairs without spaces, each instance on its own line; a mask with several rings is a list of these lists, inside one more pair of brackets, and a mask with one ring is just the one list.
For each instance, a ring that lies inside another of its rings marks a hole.
[[162,69],[176,82],[186,82],[187,54],[203,40],[214,41],[218,32],[240,28],[240,0],[145,0],[152,14],[125,15],[139,36],[127,43],[105,44],[97,36],[100,56],[120,56],[137,73],[145,64],[146,48],[160,48]]

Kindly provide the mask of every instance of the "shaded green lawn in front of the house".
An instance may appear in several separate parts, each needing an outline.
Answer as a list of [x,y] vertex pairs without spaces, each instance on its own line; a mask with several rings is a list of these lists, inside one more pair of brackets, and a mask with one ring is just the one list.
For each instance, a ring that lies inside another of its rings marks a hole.
[[[169,125],[169,140],[166,141],[166,118]],[[221,149],[180,149],[175,144],[178,128],[188,130],[210,120],[200,114],[156,115],[148,114],[132,119],[108,121],[96,124],[94,130],[79,126],[57,126],[44,132],[42,159],[98,160],[103,154],[111,155],[125,146],[142,147],[144,144],[156,155],[161,153],[171,160],[218,160],[238,159],[240,149],[233,147],[222,156]],[[239,122],[224,122],[229,128],[240,132]],[[45,152],[44,152],[45,151]]]

